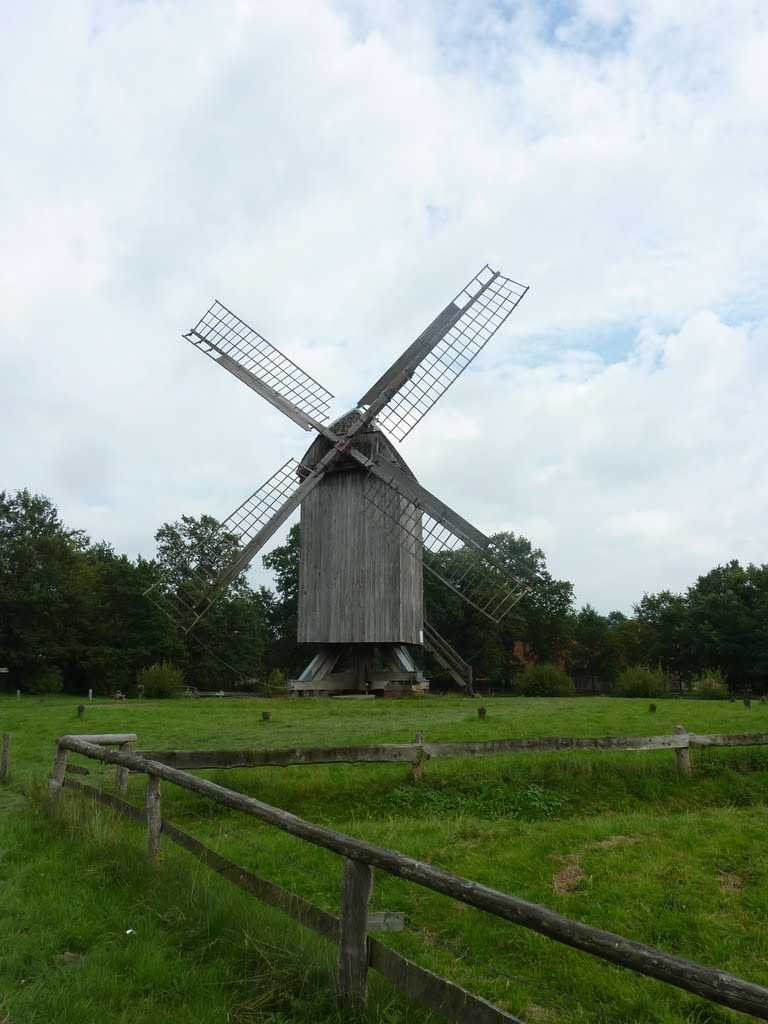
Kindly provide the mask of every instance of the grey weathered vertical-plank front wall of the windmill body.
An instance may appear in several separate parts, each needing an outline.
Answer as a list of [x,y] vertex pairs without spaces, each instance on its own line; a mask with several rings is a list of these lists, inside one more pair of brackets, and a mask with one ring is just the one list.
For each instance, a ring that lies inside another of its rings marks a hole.
[[[408,471],[378,429],[355,437],[371,457],[385,454]],[[313,465],[329,442],[317,437],[302,460]],[[406,508],[402,499],[365,470],[342,460],[301,506],[299,625],[302,643],[423,642],[423,572],[420,558],[404,550],[366,513],[367,484],[381,499]],[[420,547],[411,538],[413,547]]]

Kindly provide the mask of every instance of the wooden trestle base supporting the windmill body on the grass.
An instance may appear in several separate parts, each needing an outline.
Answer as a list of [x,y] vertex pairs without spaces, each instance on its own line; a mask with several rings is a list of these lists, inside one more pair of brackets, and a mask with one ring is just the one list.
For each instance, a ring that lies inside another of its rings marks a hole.
[[402,644],[326,644],[288,689],[292,696],[406,695],[428,693],[429,681]]

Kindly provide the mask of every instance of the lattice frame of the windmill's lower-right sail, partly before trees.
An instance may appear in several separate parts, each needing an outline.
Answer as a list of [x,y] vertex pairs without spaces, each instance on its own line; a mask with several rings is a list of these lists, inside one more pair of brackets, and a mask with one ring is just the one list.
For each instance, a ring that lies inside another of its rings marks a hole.
[[[469,604],[499,623],[530,587],[513,575],[495,557],[493,548],[474,550],[447,526],[438,522],[417,505],[400,500],[392,503],[386,486],[369,474],[366,482],[366,514],[380,529],[394,538],[424,568],[456,591]],[[414,544],[414,542],[419,542]],[[442,554],[456,554],[450,562],[437,564]]]

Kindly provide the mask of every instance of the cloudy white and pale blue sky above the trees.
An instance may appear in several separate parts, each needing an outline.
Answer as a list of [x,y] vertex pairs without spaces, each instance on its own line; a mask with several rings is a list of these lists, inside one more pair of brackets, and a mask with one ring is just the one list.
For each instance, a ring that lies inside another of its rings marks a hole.
[[603,613],[768,562],[763,0],[29,0],[0,38],[0,489],[152,557],[311,440],[182,339],[214,299],[341,414],[489,263],[529,291],[421,483]]

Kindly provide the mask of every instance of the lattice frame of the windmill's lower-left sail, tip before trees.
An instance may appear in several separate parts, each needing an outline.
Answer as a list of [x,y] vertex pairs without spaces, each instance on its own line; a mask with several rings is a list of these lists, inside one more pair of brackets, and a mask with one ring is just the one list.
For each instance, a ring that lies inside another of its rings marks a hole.
[[[170,570],[146,592],[184,632],[226,593],[227,587],[216,585],[220,573],[298,488],[298,462],[290,459],[239,505],[210,538],[193,549],[188,575],[178,586],[174,586],[175,573]],[[231,545],[232,538],[237,539],[237,548]]]

